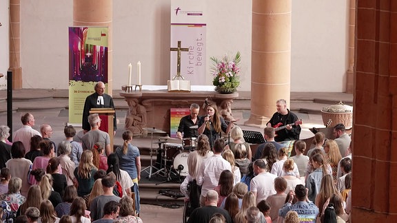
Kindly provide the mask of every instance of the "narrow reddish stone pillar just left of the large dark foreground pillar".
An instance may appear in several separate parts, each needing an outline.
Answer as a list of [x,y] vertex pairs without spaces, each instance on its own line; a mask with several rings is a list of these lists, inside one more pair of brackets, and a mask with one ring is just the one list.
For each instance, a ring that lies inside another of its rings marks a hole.
[[349,67],[346,72],[346,93],[354,91],[354,35],[356,34],[356,0],[349,0]]

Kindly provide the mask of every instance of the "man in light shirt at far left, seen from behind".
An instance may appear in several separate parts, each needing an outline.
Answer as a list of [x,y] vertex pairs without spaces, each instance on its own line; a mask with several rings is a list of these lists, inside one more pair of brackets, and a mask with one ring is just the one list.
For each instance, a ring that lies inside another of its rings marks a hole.
[[25,147],[25,151],[30,151],[30,138],[36,135],[41,136],[41,134],[36,129],[32,128],[35,123],[32,114],[26,113],[21,116],[21,122],[23,126],[21,129],[18,129],[14,132],[14,138],[12,139],[12,142],[21,141],[23,147]]

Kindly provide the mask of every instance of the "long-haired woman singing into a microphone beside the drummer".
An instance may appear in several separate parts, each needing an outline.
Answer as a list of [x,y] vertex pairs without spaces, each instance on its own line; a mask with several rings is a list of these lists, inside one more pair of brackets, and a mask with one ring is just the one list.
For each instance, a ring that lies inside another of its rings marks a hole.
[[221,132],[229,134],[233,126],[233,120],[229,125],[225,123],[222,116],[219,114],[216,105],[207,105],[207,116],[202,116],[199,120],[199,134],[205,134],[210,139],[210,146],[214,145],[217,138],[221,138]]

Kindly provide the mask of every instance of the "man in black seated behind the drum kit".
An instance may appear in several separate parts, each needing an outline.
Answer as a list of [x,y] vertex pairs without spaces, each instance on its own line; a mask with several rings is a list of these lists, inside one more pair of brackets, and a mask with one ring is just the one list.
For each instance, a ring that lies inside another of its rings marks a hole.
[[196,103],[190,105],[190,115],[182,117],[179,121],[178,131],[176,131],[176,136],[179,139],[182,140],[183,138],[194,138],[199,136],[199,111],[199,105]]

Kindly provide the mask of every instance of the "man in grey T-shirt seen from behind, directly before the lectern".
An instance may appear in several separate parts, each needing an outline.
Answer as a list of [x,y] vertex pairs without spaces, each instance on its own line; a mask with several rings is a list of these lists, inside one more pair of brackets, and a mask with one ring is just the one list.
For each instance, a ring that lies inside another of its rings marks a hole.
[[99,129],[101,126],[101,118],[99,118],[99,115],[90,114],[90,116],[88,116],[88,122],[90,123],[91,130],[84,134],[83,138],[81,138],[83,150],[92,149],[96,142],[103,142],[105,143],[106,154],[110,155],[110,153],[113,153],[113,149],[110,147],[109,134]]

